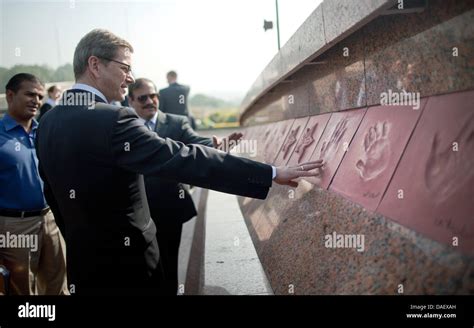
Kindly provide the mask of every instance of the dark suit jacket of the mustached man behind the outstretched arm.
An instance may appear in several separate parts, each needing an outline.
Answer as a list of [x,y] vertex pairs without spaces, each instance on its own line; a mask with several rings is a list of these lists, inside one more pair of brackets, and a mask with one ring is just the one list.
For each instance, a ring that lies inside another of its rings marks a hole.
[[[199,136],[184,116],[165,114],[158,110],[155,132],[162,138],[170,138],[184,144],[213,147],[212,140]],[[155,222],[161,219],[184,223],[197,214],[191,195],[181,183],[147,175],[145,187],[151,217]]]

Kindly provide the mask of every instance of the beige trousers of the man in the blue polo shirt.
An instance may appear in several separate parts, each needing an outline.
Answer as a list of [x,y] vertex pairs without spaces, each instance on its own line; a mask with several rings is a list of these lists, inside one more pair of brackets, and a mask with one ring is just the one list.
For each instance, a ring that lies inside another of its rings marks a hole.
[[0,264],[10,271],[12,295],[69,295],[66,246],[51,211],[28,218],[0,216]]

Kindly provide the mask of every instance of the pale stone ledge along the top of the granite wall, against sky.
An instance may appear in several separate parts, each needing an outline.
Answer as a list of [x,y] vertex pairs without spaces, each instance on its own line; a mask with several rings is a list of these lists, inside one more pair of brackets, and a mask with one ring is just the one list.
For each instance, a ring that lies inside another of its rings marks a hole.
[[285,78],[394,3],[395,0],[325,0],[258,76],[241,104],[241,114]]

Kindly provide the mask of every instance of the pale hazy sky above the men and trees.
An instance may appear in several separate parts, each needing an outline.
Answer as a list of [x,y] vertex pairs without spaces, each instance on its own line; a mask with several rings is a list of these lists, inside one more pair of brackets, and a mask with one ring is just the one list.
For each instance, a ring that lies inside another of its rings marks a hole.
[[[279,0],[282,46],[321,0]],[[191,94],[242,98],[278,51],[274,0],[0,0],[0,66],[72,63],[87,32],[105,28],[134,47],[135,77],[166,86],[176,70]]]

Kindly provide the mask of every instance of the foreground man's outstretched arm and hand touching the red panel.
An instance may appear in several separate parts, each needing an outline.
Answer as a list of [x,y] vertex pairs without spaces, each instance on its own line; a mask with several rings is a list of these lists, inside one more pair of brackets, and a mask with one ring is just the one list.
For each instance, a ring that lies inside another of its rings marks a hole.
[[[246,197],[267,196],[273,182],[270,165],[201,145],[160,138],[146,129],[132,110],[121,108],[117,113],[111,143],[122,168]],[[312,162],[298,167],[278,167],[274,181],[295,186],[296,179],[317,175],[316,169],[321,166],[321,162]]]

